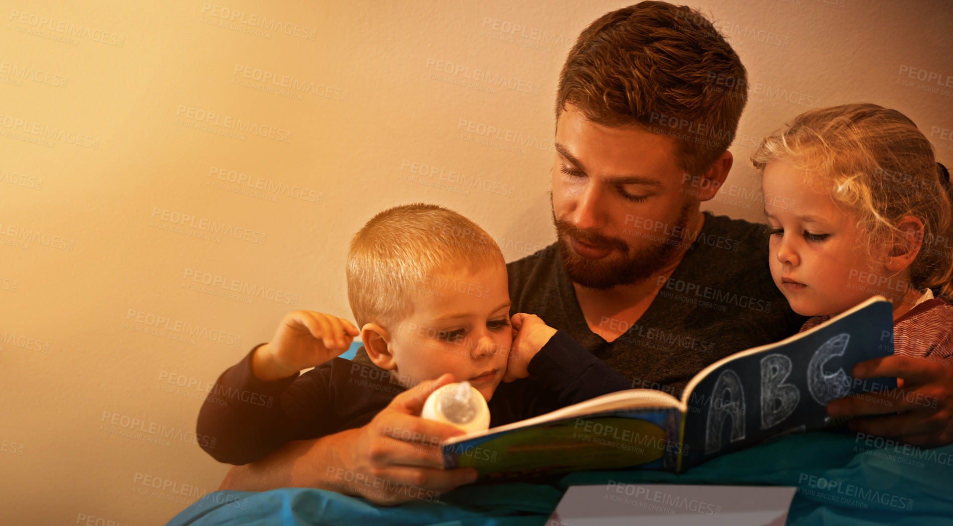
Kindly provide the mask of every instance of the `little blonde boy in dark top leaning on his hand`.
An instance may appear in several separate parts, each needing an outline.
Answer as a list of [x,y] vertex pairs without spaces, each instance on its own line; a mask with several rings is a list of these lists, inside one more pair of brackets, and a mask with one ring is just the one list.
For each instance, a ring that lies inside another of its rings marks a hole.
[[[213,458],[245,464],[292,440],[361,427],[397,394],[445,373],[487,399],[491,426],[629,388],[536,316],[517,313],[511,326],[502,253],[454,211],[403,205],[380,212],[351,242],[347,282],[359,330],[294,311],[272,341],[218,378],[197,424],[216,438],[203,445]],[[358,335],[372,363],[335,358]],[[516,381],[500,384],[504,378]]]

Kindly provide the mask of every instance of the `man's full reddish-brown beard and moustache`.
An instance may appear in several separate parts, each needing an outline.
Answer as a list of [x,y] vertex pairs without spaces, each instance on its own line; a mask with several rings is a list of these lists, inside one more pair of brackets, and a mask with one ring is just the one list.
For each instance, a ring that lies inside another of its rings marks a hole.
[[[551,201],[552,204],[552,201]],[[629,244],[618,238],[609,238],[596,233],[578,229],[568,221],[556,218],[556,209],[553,208],[553,224],[556,225],[559,256],[562,258],[562,268],[573,282],[599,290],[612,288],[616,285],[631,284],[644,281],[671,260],[685,233],[688,224],[688,214],[691,205],[685,203],[679,210],[679,217],[669,229],[666,238],[657,239],[651,232],[646,232],[649,244],[642,246],[635,254],[629,255]],[[579,242],[598,248],[612,248],[621,252],[622,259],[612,258],[612,253],[601,260],[589,260],[578,255],[566,240],[566,236]],[[659,236],[660,237],[660,236]],[[612,258],[612,261],[606,261]]]

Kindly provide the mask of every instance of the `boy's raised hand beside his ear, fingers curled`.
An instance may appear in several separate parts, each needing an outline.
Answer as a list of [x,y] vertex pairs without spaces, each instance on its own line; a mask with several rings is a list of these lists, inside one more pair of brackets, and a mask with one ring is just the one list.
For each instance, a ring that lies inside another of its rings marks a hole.
[[351,346],[360,331],[351,321],[311,310],[285,315],[272,341],[258,347],[252,372],[259,380],[278,380],[320,365]]

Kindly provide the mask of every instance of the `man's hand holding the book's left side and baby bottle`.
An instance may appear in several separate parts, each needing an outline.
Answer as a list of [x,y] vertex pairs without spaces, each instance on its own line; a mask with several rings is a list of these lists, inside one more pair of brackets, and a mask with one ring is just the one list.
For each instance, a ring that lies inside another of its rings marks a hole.
[[341,444],[340,464],[328,465],[322,486],[390,505],[434,500],[440,493],[475,481],[473,468],[443,469],[440,442],[463,431],[419,417],[427,397],[452,381],[448,373],[397,395],[360,433]]

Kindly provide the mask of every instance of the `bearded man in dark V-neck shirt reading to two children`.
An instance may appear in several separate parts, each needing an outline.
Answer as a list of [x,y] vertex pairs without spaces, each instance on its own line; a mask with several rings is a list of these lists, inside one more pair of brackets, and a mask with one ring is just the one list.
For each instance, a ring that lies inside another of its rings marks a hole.
[[[584,29],[559,79],[558,242],[509,263],[511,312],[569,332],[633,387],[675,395],[705,365],[797,332],[802,320],[771,281],[758,225],[700,213],[732,166],[727,147],[746,99],[738,55],[696,10],[643,2]],[[919,364],[901,358],[874,360],[855,376],[876,369],[923,378]],[[929,387],[943,404],[923,417],[936,425],[953,410],[948,389],[937,388],[953,383],[943,374]],[[316,487],[393,504],[414,498],[408,487],[448,491],[471,482],[473,470],[442,469],[436,441],[452,430],[416,417],[438,385],[398,395],[363,427],[295,441],[235,467],[222,488]],[[878,401],[841,399],[832,407],[891,411]],[[892,411],[904,409],[923,410]],[[888,420],[861,430],[896,436]],[[348,482],[355,480],[365,483]]]

